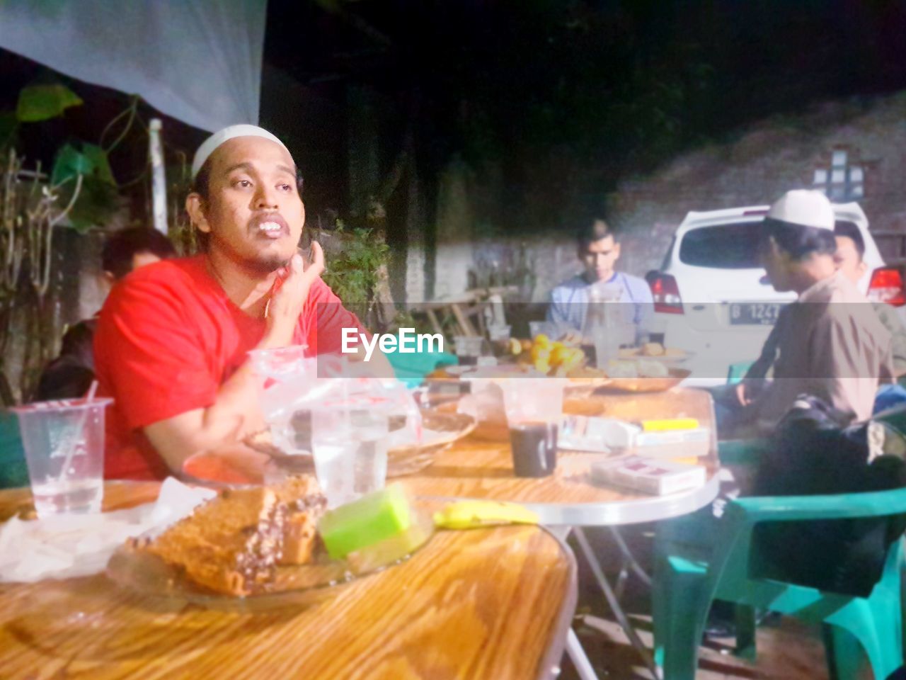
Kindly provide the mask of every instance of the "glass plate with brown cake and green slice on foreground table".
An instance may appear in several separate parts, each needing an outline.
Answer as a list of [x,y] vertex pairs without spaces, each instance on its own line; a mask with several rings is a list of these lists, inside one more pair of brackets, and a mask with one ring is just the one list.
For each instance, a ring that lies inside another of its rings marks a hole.
[[107,576],[140,595],[208,608],[297,606],[408,559],[434,531],[398,485],[326,505],[310,475],[220,491],[188,517],[129,539]]

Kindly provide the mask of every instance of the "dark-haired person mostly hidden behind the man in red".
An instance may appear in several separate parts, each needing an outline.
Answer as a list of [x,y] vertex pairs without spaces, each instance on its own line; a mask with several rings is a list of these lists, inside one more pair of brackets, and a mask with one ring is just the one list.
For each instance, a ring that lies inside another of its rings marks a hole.
[[[169,239],[156,229],[128,228],[113,232],[101,250],[104,279],[113,285],[133,269],[176,255]],[[84,319],[63,334],[60,355],[47,364],[38,380],[35,401],[76,399],[94,380],[94,330],[97,316]]]

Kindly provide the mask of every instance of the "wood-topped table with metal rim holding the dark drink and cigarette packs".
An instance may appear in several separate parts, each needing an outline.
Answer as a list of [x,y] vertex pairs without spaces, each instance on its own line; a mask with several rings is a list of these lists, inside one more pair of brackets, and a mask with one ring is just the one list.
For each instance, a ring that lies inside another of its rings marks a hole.
[[[599,394],[567,399],[566,413],[602,415],[627,421],[641,418],[697,418],[703,427],[714,428],[711,397],[696,389],[664,393]],[[500,437],[506,437],[501,429]],[[683,449],[673,453],[682,456]],[[663,520],[707,505],[718,493],[717,443],[712,436],[708,455],[700,461],[708,469],[708,482],[700,489],[658,497],[622,491],[591,483],[593,462],[607,455],[560,452],[557,470],[541,479],[513,474],[508,439],[482,441],[475,437],[457,442],[435,456],[422,471],[401,477],[415,495],[433,498],[481,498],[510,500],[538,513],[542,523],[570,526],[613,526]]]

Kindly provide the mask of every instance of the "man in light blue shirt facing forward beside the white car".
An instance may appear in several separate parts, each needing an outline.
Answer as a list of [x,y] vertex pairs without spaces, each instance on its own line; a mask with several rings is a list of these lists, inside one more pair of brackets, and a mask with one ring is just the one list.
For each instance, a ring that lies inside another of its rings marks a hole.
[[651,288],[640,277],[614,271],[620,243],[612,228],[599,217],[589,219],[579,232],[578,246],[585,270],[551,291],[547,321],[558,335],[588,335],[589,301],[620,302],[625,322],[636,328],[636,341],[643,341],[653,313]]

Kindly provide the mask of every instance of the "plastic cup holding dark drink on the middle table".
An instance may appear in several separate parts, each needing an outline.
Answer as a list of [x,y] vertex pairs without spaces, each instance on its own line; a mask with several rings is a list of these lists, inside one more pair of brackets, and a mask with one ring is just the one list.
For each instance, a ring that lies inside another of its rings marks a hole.
[[557,378],[514,378],[503,385],[516,477],[554,474],[564,386]]

